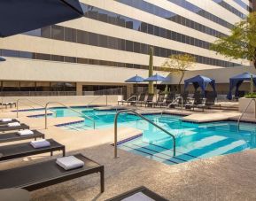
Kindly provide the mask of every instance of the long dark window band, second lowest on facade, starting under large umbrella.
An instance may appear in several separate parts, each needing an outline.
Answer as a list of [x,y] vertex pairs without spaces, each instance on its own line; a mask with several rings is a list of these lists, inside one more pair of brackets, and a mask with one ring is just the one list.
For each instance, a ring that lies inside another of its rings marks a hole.
[[[35,31],[36,33],[40,32],[40,29]],[[31,35],[33,32],[29,32]],[[33,35],[33,34],[32,34]],[[149,48],[154,48],[154,56],[168,58],[170,55],[175,54],[185,54],[186,52],[171,50],[162,48],[159,46],[153,46],[145,43],[137,43],[133,41],[128,41],[125,39],[115,38],[107,35],[99,35],[87,31],[82,31],[69,27],[61,27],[53,25],[50,27],[44,27],[41,35],[46,38],[56,39],[61,41],[67,41],[72,43],[81,43],[88,44],[92,46],[109,48],[113,50],[124,50],[129,52],[141,53],[148,55]],[[41,36],[37,35],[37,36]],[[189,54],[189,53],[187,53]],[[222,66],[222,67],[231,67],[231,66],[241,66],[236,63],[215,59],[215,58],[206,58],[203,56],[198,56],[195,54],[190,54],[196,58],[198,63],[211,65],[211,66]]]

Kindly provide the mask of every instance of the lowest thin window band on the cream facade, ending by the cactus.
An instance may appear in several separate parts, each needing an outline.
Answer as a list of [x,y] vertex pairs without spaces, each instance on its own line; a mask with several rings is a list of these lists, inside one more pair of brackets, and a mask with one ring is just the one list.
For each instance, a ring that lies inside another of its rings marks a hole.
[[[116,67],[137,68],[137,69],[145,69],[145,70],[149,69],[149,66],[146,66],[146,65],[97,60],[97,59],[91,59],[91,58],[74,58],[74,57],[42,54],[42,53],[19,51],[19,50],[2,49],[0,50],[0,55],[4,57],[12,57],[12,58],[29,58],[29,59],[48,60],[48,61],[89,64],[89,65],[97,65],[97,66],[116,66]],[[161,68],[159,66],[154,66],[154,69],[157,71],[161,71]]]

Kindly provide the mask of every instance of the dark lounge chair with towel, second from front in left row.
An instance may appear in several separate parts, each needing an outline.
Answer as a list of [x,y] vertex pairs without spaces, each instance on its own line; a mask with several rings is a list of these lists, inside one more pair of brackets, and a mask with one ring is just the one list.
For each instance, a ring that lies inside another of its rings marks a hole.
[[47,141],[50,142],[49,147],[36,149],[30,143],[16,143],[11,145],[0,146],[0,161],[28,157],[47,152],[50,152],[50,156],[52,156],[53,151],[62,151],[63,156],[65,156],[64,145],[57,143],[53,139],[48,139]]

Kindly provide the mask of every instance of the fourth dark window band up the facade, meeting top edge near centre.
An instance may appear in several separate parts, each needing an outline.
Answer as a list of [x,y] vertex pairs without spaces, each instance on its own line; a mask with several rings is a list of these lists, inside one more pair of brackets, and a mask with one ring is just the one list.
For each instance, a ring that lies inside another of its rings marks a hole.
[[211,27],[206,27],[205,25],[199,24],[196,21],[184,18],[181,15],[178,15],[174,12],[167,11],[166,9],[160,8],[157,5],[144,2],[143,0],[116,0],[116,1],[121,4],[127,4],[129,6],[135,7],[144,12],[149,12],[151,14],[159,16],[160,18],[174,21],[175,23],[181,24],[185,27],[193,28],[207,35],[213,35],[219,38],[222,36],[227,36]]

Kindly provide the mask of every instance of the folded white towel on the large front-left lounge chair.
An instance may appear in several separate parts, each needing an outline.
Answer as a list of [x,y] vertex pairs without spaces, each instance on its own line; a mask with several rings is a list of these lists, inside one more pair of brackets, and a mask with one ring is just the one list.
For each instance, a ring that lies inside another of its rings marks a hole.
[[65,170],[71,170],[84,166],[84,162],[74,156],[57,158],[56,163]]

